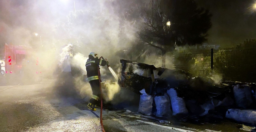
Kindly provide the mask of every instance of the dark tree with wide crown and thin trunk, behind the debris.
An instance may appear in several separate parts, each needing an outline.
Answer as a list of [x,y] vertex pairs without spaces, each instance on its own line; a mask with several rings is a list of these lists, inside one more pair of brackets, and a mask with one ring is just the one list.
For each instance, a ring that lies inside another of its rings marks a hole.
[[193,0],[151,0],[141,11],[139,39],[162,51],[162,67],[165,67],[167,51],[206,41],[211,16]]

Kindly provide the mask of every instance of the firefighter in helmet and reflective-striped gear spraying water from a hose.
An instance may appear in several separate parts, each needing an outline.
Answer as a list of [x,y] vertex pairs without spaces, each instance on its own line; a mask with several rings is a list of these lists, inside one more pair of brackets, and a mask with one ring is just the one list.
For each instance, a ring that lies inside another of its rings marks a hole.
[[103,59],[98,59],[98,55],[94,52],[89,54],[89,59],[86,62],[86,71],[87,71],[87,80],[89,81],[92,88],[92,98],[88,103],[87,107],[93,111],[96,110],[95,105],[99,100],[100,93],[100,81],[99,80],[99,65],[105,66],[108,65],[108,62]]

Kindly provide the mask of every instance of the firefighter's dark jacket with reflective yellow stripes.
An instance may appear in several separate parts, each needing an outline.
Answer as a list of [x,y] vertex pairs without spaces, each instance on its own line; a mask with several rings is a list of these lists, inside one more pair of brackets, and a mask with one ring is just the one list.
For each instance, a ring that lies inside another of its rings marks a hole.
[[107,61],[98,59],[98,57],[94,58],[89,55],[89,59],[86,62],[86,71],[87,71],[87,79],[88,81],[99,79],[98,76],[98,67],[99,65],[105,66],[107,65]]

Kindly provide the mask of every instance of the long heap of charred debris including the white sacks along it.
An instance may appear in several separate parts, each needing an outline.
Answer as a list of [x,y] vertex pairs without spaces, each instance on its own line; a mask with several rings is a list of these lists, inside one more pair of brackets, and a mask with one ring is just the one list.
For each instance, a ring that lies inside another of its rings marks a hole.
[[[255,84],[195,77],[189,73],[120,60],[118,84],[140,93],[139,113],[158,117],[209,116],[256,125]],[[241,119],[243,116],[243,119]],[[198,119],[198,118],[196,118]]]

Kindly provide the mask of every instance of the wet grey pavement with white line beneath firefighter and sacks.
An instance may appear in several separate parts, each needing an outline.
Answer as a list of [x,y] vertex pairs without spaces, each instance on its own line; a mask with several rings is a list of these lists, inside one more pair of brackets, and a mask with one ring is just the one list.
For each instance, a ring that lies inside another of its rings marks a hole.
[[[1,132],[101,132],[100,110],[88,110],[79,97],[53,94],[62,88],[55,80],[10,87],[0,87]],[[137,113],[136,106],[103,110],[106,132],[243,132],[241,123],[210,115],[190,119],[146,116]]]

